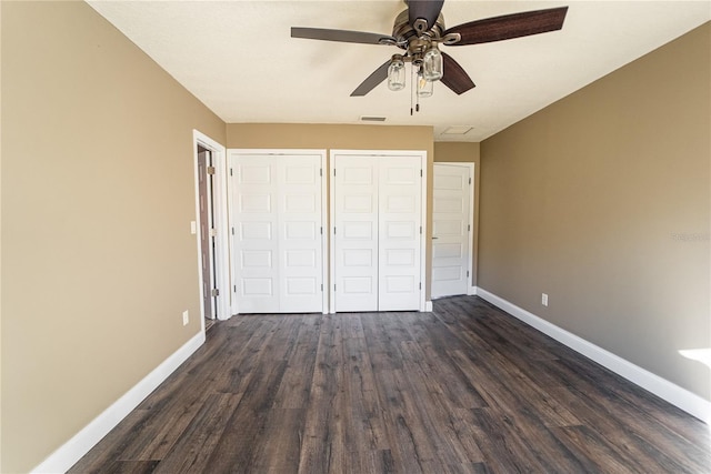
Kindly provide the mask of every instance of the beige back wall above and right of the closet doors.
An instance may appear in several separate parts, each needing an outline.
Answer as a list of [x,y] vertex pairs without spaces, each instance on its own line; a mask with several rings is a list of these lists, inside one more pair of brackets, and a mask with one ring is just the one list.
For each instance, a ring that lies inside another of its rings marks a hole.
[[[326,149],[333,150],[424,150],[427,151],[427,249],[425,297],[430,299],[432,274],[432,159],[431,127],[344,125],[299,123],[229,123],[228,148]],[[330,181],[329,181],[330,183]]]

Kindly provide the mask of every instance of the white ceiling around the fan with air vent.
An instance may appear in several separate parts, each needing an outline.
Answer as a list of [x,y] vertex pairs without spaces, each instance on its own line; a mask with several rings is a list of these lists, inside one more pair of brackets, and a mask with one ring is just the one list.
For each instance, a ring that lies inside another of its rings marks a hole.
[[[290,38],[290,27],[392,32],[402,0],[89,1],[228,123],[433,125],[435,141],[481,141],[711,19],[703,1],[447,0],[445,26],[569,6],[561,31],[442,47],[477,88],[442,84],[410,115],[409,87],[350,93],[395,47]],[[445,134],[450,125],[472,128]]]

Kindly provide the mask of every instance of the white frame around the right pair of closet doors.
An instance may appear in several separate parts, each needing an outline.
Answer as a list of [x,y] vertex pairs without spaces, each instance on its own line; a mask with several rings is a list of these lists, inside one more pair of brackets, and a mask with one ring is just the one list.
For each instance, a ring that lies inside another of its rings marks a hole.
[[[330,150],[329,151],[329,178],[333,177],[336,170],[336,158],[338,155],[368,155],[368,157],[419,157],[421,174],[420,188],[420,222],[422,232],[420,232],[420,279],[422,288],[420,289],[420,311],[427,311],[427,150]],[[336,213],[333,202],[336,200],[336,186],[331,182],[329,185],[329,282],[336,281],[336,242],[334,229]],[[333,284],[329,284],[329,312],[336,313],[336,291]],[[430,303],[431,304],[431,303]]]

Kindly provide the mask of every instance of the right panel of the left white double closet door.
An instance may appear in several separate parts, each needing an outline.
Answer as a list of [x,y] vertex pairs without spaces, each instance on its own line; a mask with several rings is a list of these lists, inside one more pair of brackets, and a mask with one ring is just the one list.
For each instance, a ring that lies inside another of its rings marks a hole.
[[321,312],[321,157],[278,161],[280,311]]

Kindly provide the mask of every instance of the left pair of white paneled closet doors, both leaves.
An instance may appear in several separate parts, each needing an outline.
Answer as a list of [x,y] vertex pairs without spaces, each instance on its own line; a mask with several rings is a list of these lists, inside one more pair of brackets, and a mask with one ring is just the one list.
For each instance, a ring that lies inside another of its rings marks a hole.
[[320,155],[230,154],[240,313],[323,310]]

